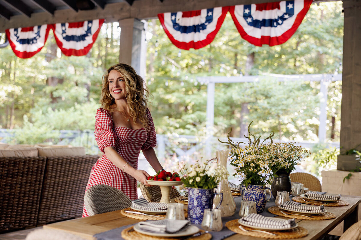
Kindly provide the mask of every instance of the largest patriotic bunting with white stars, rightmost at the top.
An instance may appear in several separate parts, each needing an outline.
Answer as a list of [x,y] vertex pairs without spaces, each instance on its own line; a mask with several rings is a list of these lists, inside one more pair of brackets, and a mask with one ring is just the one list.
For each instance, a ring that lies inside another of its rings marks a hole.
[[312,0],[236,5],[230,7],[232,19],[243,39],[253,45],[283,44],[296,32]]

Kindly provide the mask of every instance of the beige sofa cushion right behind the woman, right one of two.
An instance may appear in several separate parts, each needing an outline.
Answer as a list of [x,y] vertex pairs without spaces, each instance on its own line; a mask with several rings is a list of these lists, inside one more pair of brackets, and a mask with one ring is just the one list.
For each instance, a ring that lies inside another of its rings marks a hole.
[[69,146],[46,146],[38,148],[38,155],[44,157],[60,157],[60,156],[84,156],[84,147],[69,147]]

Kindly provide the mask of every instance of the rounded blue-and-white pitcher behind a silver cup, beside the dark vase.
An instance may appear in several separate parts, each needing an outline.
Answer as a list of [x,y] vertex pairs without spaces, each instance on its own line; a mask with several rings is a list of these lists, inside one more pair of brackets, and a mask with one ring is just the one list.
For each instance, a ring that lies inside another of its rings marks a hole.
[[263,212],[266,207],[267,201],[271,199],[267,199],[266,197],[266,189],[271,190],[269,187],[260,186],[260,185],[248,185],[246,188],[244,185],[240,186],[240,193],[242,195],[243,200],[250,200],[256,202],[257,213]]

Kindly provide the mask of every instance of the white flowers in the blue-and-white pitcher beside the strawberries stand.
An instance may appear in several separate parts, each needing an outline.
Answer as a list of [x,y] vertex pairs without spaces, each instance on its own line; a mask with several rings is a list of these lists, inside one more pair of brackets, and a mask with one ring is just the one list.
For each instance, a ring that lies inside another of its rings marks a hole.
[[226,178],[227,170],[224,167],[212,167],[210,161],[206,163],[199,163],[181,167],[181,181],[184,187],[194,187],[201,189],[213,189],[218,186],[222,178]]

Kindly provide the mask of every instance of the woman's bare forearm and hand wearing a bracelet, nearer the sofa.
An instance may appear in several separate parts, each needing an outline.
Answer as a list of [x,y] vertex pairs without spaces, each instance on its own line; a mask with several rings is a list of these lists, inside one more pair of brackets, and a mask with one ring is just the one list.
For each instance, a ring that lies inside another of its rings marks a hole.
[[133,168],[132,166],[130,166],[129,163],[127,164],[126,160],[124,160],[124,158],[121,155],[119,155],[119,153],[113,147],[104,148],[104,152],[106,157],[109,158],[109,160],[112,161],[112,163],[115,166],[117,166],[119,169],[128,173],[130,176],[134,177],[137,181],[141,182],[142,184],[146,186],[151,186],[147,182],[147,178],[149,177],[149,174],[144,170],[138,170]]

